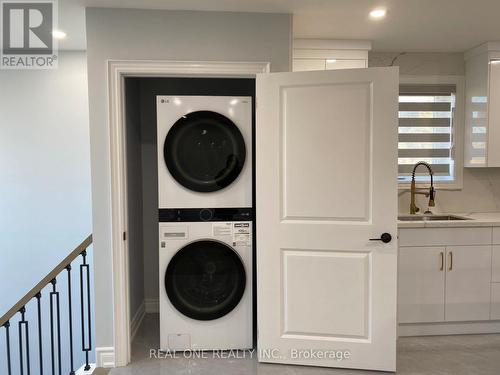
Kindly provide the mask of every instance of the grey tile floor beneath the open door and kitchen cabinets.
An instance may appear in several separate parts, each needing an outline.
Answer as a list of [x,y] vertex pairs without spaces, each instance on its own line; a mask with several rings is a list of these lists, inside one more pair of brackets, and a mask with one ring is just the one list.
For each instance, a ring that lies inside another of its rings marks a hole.
[[[284,366],[245,359],[150,359],[158,347],[157,314],[148,314],[132,346],[132,363],[110,375],[369,375],[381,372]],[[401,338],[398,374],[499,375],[500,335],[461,335]]]

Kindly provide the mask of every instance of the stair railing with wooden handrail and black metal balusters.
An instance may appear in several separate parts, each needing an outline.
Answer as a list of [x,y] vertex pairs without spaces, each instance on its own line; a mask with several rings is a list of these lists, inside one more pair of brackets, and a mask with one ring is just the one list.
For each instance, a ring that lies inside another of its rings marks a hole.
[[[43,339],[43,324],[42,324],[42,291],[45,287],[51,286],[49,292],[50,304],[50,365],[51,374],[61,375],[62,372],[62,342],[61,342],[61,298],[60,291],[58,291],[58,281],[62,278],[62,274],[66,271],[67,290],[67,306],[68,306],[68,324],[69,324],[69,375],[75,374],[74,367],[74,335],[73,335],[73,304],[72,291],[71,291],[71,271],[72,263],[79,257],[82,257],[81,264],[79,265],[80,271],[80,317],[81,317],[81,350],[85,354],[85,364],[83,369],[90,370],[89,353],[92,351],[92,316],[91,316],[91,290],[90,290],[90,265],[87,261],[87,249],[92,244],[92,235],[89,235],[80,245],[78,245],[64,260],[59,263],[47,276],[45,276],[33,289],[21,298],[7,313],[0,318],[0,327],[5,331],[5,347],[6,347],[6,369],[7,374],[12,375],[13,371],[13,358],[11,347],[11,323],[10,321],[16,314],[20,314],[18,321],[18,372],[20,375],[30,375],[33,373],[32,361],[30,357],[30,350],[34,349],[30,346],[30,322],[26,317],[26,309],[29,302],[36,300],[36,320],[38,335],[38,370],[40,375],[44,373],[44,360],[49,358],[44,351]],[[58,279],[59,278],[59,279]],[[63,302],[65,303],[65,302]],[[31,353],[33,353],[31,351]],[[3,373],[0,368],[0,373]]]

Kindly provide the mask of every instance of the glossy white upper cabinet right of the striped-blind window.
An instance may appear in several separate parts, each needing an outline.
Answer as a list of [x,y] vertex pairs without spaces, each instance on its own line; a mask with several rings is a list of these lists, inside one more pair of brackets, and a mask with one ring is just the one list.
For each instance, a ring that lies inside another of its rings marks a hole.
[[465,54],[466,167],[500,167],[500,43]]

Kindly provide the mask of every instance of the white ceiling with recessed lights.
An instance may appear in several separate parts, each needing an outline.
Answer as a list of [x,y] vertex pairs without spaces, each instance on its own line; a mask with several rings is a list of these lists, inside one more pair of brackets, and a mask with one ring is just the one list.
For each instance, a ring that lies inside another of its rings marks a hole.
[[[86,6],[293,13],[295,38],[366,39],[376,51],[461,52],[500,40],[499,0],[59,0],[60,48],[85,48]],[[369,19],[375,7],[387,17]]]

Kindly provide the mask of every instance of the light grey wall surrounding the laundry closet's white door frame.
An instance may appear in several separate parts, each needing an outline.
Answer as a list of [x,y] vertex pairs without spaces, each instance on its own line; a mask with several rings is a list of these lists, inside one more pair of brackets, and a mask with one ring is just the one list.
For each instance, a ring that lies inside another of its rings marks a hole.
[[269,61],[289,71],[291,23],[284,14],[87,9],[98,347],[114,341],[106,61]]

